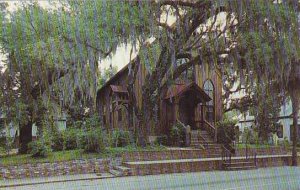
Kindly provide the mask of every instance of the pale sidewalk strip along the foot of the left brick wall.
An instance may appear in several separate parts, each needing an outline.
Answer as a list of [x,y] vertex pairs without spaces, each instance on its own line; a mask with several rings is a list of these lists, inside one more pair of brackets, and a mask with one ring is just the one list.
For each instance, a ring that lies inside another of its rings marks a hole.
[[6,180],[0,180],[0,189],[7,188],[7,187],[25,186],[25,185],[95,180],[95,179],[106,179],[106,178],[113,178],[113,177],[114,176],[110,173],[101,173],[101,174],[79,174],[79,175],[69,175],[69,176],[53,176],[53,177],[26,178],[26,179],[6,179]]

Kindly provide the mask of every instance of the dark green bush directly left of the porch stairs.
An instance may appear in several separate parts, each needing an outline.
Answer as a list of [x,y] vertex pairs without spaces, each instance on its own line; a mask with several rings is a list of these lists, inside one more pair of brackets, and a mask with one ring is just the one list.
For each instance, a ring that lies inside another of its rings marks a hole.
[[171,128],[170,137],[175,146],[184,146],[185,143],[185,126],[182,123],[176,123]]

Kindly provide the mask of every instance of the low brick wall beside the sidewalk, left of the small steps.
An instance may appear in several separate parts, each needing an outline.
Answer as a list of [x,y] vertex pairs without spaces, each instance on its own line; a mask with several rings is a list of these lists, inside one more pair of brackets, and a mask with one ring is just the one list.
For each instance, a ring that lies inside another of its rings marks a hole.
[[103,173],[108,171],[109,163],[108,159],[88,159],[14,166],[0,165],[0,179]]

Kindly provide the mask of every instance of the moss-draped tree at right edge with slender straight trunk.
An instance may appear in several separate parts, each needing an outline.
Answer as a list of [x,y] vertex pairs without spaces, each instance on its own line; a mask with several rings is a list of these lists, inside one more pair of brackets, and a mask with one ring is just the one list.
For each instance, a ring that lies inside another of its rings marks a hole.
[[[288,95],[293,107],[293,165],[297,165],[300,98],[299,1],[232,1],[237,27],[228,59],[262,96]],[[277,91],[269,90],[277,87]],[[279,92],[278,92],[279,91]],[[260,101],[264,101],[261,99]]]

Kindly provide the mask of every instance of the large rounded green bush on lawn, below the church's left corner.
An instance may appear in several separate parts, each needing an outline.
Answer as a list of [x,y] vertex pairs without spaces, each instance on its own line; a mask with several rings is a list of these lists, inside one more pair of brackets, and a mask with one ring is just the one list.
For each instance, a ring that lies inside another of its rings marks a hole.
[[101,128],[89,128],[81,136],[81,142],[85,152],[102,152],[105,149],[105,134]]

